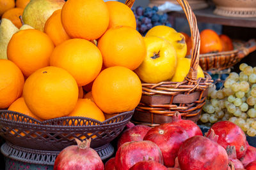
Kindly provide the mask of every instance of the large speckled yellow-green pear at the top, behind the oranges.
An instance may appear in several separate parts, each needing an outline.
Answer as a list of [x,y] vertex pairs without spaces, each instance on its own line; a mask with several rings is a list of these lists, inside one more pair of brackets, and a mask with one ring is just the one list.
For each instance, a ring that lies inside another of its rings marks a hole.
[[52,13],[62,8],[64,0],[31,0],[24,9],[22,19],[35,29],[44,31],[45,22]]

